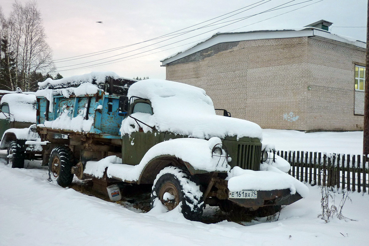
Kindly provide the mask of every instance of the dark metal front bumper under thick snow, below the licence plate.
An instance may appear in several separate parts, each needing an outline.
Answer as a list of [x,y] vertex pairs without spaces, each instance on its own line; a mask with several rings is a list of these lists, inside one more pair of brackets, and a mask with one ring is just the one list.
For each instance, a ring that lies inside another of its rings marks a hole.
[[289,205],[300,200],[299,193],[291,194],[290,189],[258,191],[257,198],[228,198],[231,202],[245,207],[264,207],[270,205]]

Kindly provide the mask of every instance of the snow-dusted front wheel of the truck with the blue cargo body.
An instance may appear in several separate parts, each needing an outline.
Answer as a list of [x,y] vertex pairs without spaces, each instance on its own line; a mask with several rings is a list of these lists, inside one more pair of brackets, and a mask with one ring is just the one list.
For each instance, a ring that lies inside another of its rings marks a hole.
[[160,171],[152,186],[151,207],[157,198],[169,211],[182,202],[181,210],[186,219],[199,221],[203,214],[201,186],[185,169],[171,166]]

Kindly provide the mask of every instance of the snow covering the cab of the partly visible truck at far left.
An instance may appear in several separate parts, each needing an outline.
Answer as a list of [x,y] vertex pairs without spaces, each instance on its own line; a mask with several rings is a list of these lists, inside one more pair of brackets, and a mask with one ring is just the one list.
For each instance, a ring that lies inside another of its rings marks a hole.
[[[0,104],[9,105],[10,120],[19,122],[36,122],[36,96],[34,94],[11,93],[1,97]],[[7,115],[0,114],[4,119]]]

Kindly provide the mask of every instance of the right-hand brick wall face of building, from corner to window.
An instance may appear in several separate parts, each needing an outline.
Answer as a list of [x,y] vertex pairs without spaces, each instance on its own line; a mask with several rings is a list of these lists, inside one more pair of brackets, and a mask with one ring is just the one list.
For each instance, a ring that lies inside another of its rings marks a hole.
[[355,62],[365,62],[365,52],[308,38],[305,128],[362,130],[363,116],[354,115]]

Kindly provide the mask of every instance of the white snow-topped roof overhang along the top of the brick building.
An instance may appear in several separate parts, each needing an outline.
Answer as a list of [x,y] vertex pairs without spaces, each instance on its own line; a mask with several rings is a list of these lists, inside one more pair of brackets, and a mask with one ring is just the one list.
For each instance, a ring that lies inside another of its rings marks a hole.
[[307,27],[301,30],[265,30],[265,31],[251,31],[251,32],[227,32],[217,33],[211,38],[192,46],[186,51],[179,52],[176,55],[170,56],[161,60],[162,65],[165,66],[170,62],[181,59],[185,56],[191,55],[203,49],[209,48],[213,45],[225,43],[225,42],[236,42],[256,39],[273,39],[273,38],[296,38],[296,37],[313,37],[315,39],[325,40],[330,43],[348,46],[353,49],[359,49],[365,51],[366,43],[363,41],[355,40],[351,37],[345,37],[331,32],[314,28]]

